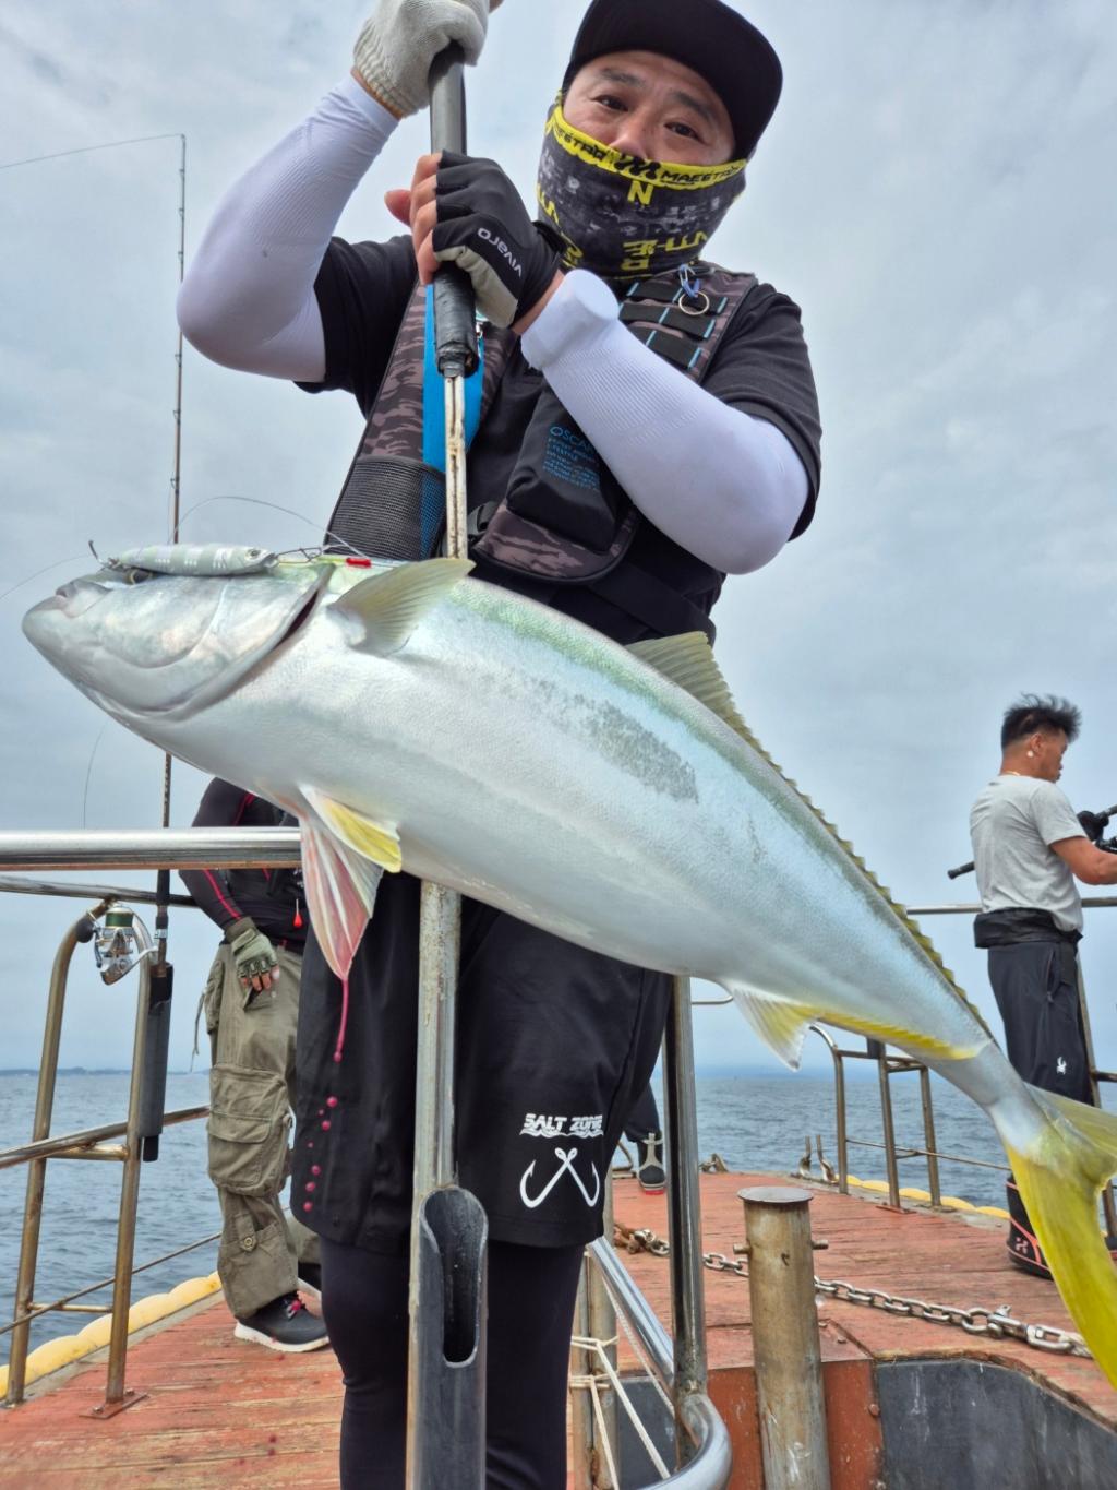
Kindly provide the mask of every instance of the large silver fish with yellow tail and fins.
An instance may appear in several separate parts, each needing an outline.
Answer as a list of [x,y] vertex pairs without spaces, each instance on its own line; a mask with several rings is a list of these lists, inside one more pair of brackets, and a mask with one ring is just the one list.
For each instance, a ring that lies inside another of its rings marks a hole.
[[989,1113],[1117,1381],[1098,1225],[1117,1119],[1020,1080],[931,943],[766,757],[704,638],[623,648],[468,571],[144,550],[63,586],[24,630],[128,729],[298,817],[343,977],[381,872],[404,869],[721,983],[792,1067],[812,1019],[926,1061]]

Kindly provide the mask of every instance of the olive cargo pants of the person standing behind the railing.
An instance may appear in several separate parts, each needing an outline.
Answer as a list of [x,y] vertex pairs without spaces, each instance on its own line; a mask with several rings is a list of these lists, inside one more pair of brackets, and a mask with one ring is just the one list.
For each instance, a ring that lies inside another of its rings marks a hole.
[[225,1299],[247,1319],[292,1293],[298,1264],[319,1261],[319,1240],[286,1217],[290,1107],[295,1100],[295,1025],[302,960],[277,948],[281,977],[246,991],[222,943],[203,994],[210,1036],[210,1179],[222,1237],[217,1275]]

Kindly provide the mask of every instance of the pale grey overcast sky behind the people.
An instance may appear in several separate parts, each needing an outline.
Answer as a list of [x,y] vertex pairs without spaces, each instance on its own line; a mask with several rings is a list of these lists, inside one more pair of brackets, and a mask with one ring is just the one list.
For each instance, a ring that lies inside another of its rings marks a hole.
[[[471,148],[526,197],[579,13],[508,0],[469,77]],[[362,15],[344,0],[7,0],[0,164],[182,131],[189,258],[222,191],[344,74]],[[1077,808],[1117,802],[1117,9],[757,0],[748,15],[786,85],[713,256],[803,305],[824,478],[809,533],[727,586],[718,656],[774,758],[894,894],[959,900],[967,882],[944,872],[970,857],[970,803],[1020,690],[1081,706],[1063,785]],[[396,133],[344,235],[395,231],[381,192],[407,183],[424,128]],[[19,618],[80,569],[88,539],[113,553],[165,536],[177,192],[177,139],[0,171],[0,592],[69,560],[0,599],[3,828],[158,822],[161,757],[106,727]],[[313,542],[359,425],[343,395],[188,349],[182,498],[201,510],[183,536]],[[201,787],[176,769],[176,822]],[[37,1064],[55,943],[79,910],[0,897],[0,1065]],[[929,924],[995,1019],[970,927]],[[171,937],[185,1067],[216,933],[179,912]],[[1087,912],[1083,951],[1099,1058],[1117,1065],[1114,912]],[[64,1064],[127,1064],[134,986],[104,989],[79,954]],[[722,1009],[698,1016],[698,1061],[773,1058]]]

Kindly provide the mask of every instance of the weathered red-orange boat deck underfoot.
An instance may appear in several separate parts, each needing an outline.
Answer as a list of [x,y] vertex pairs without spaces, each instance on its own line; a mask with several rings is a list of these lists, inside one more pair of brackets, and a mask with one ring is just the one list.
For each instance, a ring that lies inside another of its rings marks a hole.
[[[737,1192],[764,1183],[773,1179],[703,1176],[707,1252],[733,1256],[745,1231]],[[664,1198],[643,1195],[633,1180],[617,1183],[615,1211],[628,1228],[648,1226],[666,1235]],[[1016,1319],[1071,1328],[1054,1287],[1011,1268],[1004,1229],[986,1217],[897,1213],[861,1196],[819,1189],[812,1225],[815,1238],[828,1243],[816,1256],[824,1278],[965,1308],[1008,1304]],[[670,1325],[667,1262],[649,1253],[626,1256],[626,1262]],[[748,1283],[736,1274],[707,1271],[706,1314],[710,1395],[734,1442],[733,1483],[758,1486]],[[967,1356],[1011,1366],[1041,1380],[1095,1421],[1117,1426],[1117,1393],[1092,1360],[831,1299],[821,1305],[821,1320],[834,1490],[867,1490],[877,1478],[877,1360]],[[144,1399],[97,1421],[82,1414],[101,1401],[103,1353],[36,1384],[21,1408],[0,1414],[0,1484],[48,1490],[337,1486],[341,1384],[332,1353],[280,1356],[234,1340],[220,1296],[134,1337],[128,1387],[146,1393]]]

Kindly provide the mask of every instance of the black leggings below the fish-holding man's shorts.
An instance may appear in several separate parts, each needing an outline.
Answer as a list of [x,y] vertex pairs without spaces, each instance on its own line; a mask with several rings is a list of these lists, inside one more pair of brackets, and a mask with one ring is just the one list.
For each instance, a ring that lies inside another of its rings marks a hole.
[[[566,1490],[566,1378],[582,1247],[489,1243],[489,1490]],[[407,1258],[322,1238],[322,1307],[341,1362],[343,1490],[404,1484]]]

